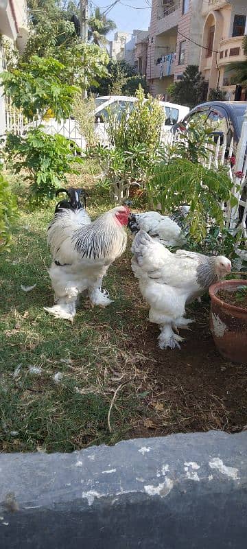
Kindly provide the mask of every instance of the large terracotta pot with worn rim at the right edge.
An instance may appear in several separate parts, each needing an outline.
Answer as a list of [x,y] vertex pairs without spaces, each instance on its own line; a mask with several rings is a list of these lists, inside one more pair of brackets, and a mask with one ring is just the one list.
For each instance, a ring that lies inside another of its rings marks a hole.
[[209,288],[211,297],[210,327],[220,354],[231,362],[247,364],[247,310],[222,301],[220,290],[233,292],[246,280],[224,280]]

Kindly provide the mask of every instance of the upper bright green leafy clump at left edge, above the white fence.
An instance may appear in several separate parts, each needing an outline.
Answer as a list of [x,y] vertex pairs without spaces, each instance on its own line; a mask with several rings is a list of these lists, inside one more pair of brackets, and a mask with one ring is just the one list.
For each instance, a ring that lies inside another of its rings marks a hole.
[[78,88],[64,83],[66,67],[57,60],[34,56],[0,78],[5,95],[22,108],[25,117],[44,117],[48,110],[58,121],[69,117]]

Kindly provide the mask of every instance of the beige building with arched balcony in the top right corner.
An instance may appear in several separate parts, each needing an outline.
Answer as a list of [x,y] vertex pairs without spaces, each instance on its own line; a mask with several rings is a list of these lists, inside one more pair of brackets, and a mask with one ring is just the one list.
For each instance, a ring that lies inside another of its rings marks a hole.
[[200,70],[209,82],[209,89],[226,91],[226,99],[245,99],[241,86],[231,84],[233,72],[227,65],[246,59],[242,47],[247,34],[247,0],[204,0],[204,16]]

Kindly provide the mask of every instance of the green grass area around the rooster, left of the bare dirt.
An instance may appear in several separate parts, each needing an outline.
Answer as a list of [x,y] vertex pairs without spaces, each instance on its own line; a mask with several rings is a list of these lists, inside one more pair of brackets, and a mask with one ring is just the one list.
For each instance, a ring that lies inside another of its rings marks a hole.
[[[82,168],[81,176],[71,176],[71,185],[89,187],[92,172],[95,175],[95,167]],[[106,277],[104,285],[116,300],[108,309],[93,309],[82,300],[73,326],[47,315],[43,306],[53,303],[53,292],[45,237],[54,206],[30,212],[20,198],[24,194],[20,178],[13,187],[20,216],[11,253],[3,255],[1,265],[1,448],[69,452],[115,443],[126,436],[142,408],[137,397],[141,372],[132,352],[124,351],[131,316],[130,294],[126,295],[121,280],[127,259],[119,270],[112,266]],[[93,217],[111,207],[104,192],[101,196],[100,185],[90,194],[88,209]],[[30,292],[21,289],[34,284]],[[138,360],[145,360],[141,353]],[[121,383],[110,433],[108,410]]]

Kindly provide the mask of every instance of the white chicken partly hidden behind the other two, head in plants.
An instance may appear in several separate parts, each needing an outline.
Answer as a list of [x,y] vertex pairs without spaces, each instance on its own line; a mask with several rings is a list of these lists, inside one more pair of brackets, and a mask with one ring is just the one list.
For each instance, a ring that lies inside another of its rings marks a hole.
[[180,246],[185,240],[184,228],[181,220],[185,220],[189,213],[189,206],[180,206],[173,216],[161,215],[158,211],[145,211],[132,213],[128,222],[128,228],[132,233],[145,231],[164,246]]

